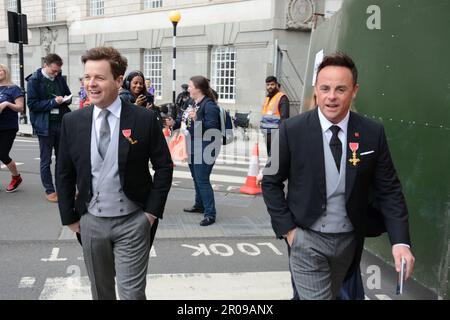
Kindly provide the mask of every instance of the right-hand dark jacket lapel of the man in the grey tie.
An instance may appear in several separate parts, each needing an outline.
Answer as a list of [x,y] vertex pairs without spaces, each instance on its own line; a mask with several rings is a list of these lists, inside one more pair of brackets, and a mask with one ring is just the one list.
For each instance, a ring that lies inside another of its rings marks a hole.
[[[120,132],[119,132],[119,176],[120,183],[123,186],[124,184],[124,176],[125,176],[125,167],[128,159],[128,151],[130,150],[130,142],[123,134],[123,130],[129,129],[131,130],[131,138],[134,139],[134,117],[131,108],[132,105],[129,105],[122,101],[122,110],[120,112]],[[137,108],[137,107],[136,107]]]

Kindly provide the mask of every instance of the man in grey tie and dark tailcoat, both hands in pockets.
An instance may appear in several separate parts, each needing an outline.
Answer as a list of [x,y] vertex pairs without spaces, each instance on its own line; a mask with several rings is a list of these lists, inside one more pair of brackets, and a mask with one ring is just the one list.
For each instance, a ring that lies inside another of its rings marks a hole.
[[116,299],[114,277],[120,299],[145,299],[148,255],[173,163],[156,115],[118,96],[127,60],[111,47],[93,48],[81,60],[92,104],[63,118],[62,224],[81,234],[94,299]]

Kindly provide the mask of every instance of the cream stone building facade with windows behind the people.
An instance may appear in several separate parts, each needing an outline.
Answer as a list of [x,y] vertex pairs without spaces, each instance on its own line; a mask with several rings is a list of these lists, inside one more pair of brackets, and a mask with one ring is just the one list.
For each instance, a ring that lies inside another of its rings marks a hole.
[[[11,3],[12,1],[12,3]],[[193,75],[211,79],[219,102],[231,110],[252,110],[257,121],[264,79],[276,75],[299,109],[314,13],[336,10],[342,0],[22,0],[28,19],[25,76],[48,52],[64,60],[63,74],[74,95],[83,74],[80,56],[109,45],[142,70],[158,91],[158,103],[172,100],[172,32],[169,12],[178,10],[177,92]],[[17,79],[17,45],[8,42],[7,15],[14,0],[0,0],[0,63]],[[331,8],[331,9],[330,9]]]

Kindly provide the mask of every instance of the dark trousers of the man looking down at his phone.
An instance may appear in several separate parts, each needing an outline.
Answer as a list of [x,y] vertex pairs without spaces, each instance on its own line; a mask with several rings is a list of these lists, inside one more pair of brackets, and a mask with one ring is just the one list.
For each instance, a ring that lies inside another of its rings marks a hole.
[[[52,151],[55,149],[55,156],[58,156],[59,137],[61,136],[61,124],[51,124],[48,130],[48,136],[38,136],[39,150],[41,157],[41,181],[44,186],[45,193],[55,192],[53,185],[52,172],[50,166],[52,164]],[[56,172],[56,161],[55,161]],[[56,181],[55,181],[56,184]]]

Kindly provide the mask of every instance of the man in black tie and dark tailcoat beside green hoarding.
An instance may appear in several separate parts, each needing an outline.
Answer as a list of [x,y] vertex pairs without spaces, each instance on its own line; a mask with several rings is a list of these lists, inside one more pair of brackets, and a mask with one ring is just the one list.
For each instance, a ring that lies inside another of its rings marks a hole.
[[315,85],[318,108],[281,125],[279,163],[272,154],[268,164],[278,171],[263,177],[272,227],[291,245],[291,272],[302,300],[336,298],[359,265],[372,188],[396,269],[404,258],[406,278],[413,271],[408,212],[384,128],[350,111],[358,88],[350,57],[325,57]]

